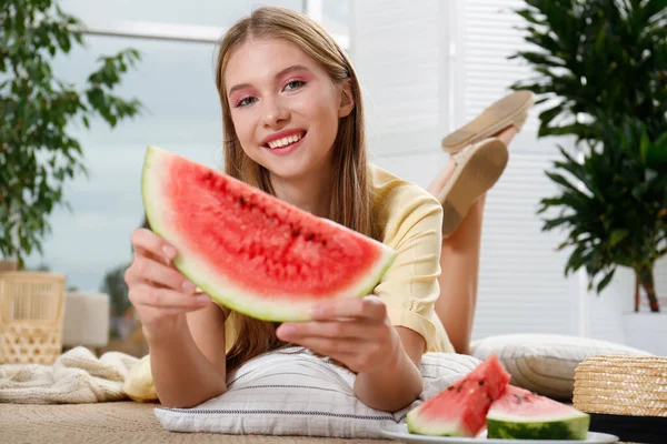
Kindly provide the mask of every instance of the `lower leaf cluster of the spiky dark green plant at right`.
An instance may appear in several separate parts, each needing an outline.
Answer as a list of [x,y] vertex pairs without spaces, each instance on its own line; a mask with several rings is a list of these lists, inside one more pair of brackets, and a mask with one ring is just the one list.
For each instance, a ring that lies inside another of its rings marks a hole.
[[598,292],[617,265],[651,269],[667,252],[667,133],[651,141],[636,120],[619,129],[600,125],[607,127],[601,131],[604,150],[601,144],[591,147],[579,161],[560,148],[563,160],[547,175],[561,192],[542,199],[539,209],[560,210],[545,219],[544,229],[567,231],[560,248],[574,250],[566,273],[584,266],[591,278],[589,289],[601,275]]

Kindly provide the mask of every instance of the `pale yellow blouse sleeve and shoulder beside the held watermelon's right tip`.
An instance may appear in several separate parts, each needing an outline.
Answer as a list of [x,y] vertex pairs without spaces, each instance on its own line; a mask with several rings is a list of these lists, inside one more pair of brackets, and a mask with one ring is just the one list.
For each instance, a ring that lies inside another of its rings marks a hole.
[[427,352],[454,352],[436,314],[440,295],[442,208],[422,188],[379,167],[371,167],[372,215],[385,226],[381,241],[397,256],[374,294],[387,305],[392,325],[419,333]]

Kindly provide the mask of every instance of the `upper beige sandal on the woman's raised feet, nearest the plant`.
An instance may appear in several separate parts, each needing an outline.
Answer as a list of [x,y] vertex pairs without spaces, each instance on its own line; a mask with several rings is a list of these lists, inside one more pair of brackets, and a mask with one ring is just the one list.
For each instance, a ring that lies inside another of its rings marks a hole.
[[528,109],[535,103],[531,91],[516,91],[494,102],[481,114],[446,135],[442,141],[442,151],[450,154],[461,151],[467,145],[497,134],[514,124],[521,129],[528,118]]

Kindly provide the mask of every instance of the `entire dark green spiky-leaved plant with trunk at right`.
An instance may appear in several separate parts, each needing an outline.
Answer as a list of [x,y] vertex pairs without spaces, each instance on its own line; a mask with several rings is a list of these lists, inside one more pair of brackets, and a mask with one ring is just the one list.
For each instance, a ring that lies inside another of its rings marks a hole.
[[545,104],[538,137],[575,141],[547,172],[559,193],[541,201],[544,230],[566,231],[565,272],[585,269],[597,293],[631,269],[635,312],[643,289],[667,325],[654,279],[667,253],[667,1],[526,0],[516,13],[530,47],[512,58],[535,77],[512,88]]

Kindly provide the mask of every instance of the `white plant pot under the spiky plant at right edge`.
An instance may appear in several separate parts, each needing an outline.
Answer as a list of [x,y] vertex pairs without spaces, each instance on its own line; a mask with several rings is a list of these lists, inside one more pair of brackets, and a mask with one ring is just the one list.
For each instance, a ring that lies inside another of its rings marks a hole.
[[624,313],[623,330],[627,345],[667,356],[667,313]]

